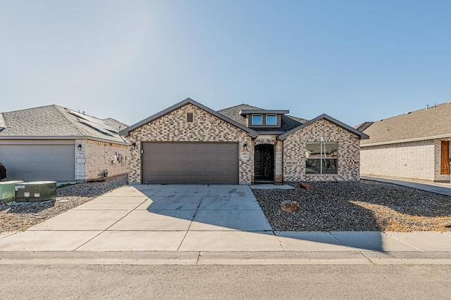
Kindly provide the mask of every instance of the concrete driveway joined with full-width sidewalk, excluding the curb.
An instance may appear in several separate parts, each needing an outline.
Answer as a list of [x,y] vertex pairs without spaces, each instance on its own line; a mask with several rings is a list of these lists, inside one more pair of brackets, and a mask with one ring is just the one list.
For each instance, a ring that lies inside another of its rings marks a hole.
[[451,252],[451,233],[273,232],[247,185],[130,185],[0,234],[2,252],[365,250]]

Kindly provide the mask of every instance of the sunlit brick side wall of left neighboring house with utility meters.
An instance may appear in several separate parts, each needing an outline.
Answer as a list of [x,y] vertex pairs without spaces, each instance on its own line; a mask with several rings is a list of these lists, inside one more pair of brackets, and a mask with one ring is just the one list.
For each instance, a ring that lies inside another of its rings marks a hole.
[[[82,151],[77,146],[82,145]],[[108,177],[127,174],[128,145],[118,145],[92,140],[75,141],[75,180],[87,181],[100,178],[102,171]],[[122,156],[122,161],[119,159]],[[116,157],[116,159],[113,159]]]

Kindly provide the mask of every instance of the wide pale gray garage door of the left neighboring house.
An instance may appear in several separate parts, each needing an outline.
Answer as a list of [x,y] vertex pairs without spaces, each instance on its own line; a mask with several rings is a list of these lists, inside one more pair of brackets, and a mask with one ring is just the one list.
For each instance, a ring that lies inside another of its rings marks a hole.
[[75,181],[75,145],[0,145],[6,180]]

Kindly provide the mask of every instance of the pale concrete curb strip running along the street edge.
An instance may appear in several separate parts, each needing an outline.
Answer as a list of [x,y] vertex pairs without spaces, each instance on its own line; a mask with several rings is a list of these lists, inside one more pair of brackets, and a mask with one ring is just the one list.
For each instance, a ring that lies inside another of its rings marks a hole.
[[451,265],[451,252],[0,252],[0,265]]

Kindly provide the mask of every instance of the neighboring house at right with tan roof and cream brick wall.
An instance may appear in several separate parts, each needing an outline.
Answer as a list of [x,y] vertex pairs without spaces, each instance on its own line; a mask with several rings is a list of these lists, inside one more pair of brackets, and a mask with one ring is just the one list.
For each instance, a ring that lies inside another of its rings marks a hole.
[[357,126],[361,174],[450,182],[451,103]]

